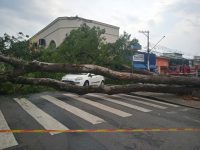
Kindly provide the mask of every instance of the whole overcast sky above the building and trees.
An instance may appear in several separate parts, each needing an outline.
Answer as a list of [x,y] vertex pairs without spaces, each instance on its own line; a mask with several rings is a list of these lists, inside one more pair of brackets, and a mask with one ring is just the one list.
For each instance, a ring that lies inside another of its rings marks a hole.
[[160,45],[200,55],[200,0],[0,0],[0,35],[33,36],[57,17],[76,15],[119,26],[143,47],[138,31],[149,30],[152,45],[166,36]]

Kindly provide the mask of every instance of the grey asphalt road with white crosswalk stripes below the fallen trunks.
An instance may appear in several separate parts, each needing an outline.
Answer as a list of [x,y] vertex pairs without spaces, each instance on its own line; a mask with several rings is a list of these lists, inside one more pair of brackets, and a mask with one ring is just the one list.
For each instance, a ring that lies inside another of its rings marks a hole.
[[[1,130],[127,128],[200,128],[200,110],[131,94],[0,97]],[[0,149],[200,150],[200,132],[0,133]]]

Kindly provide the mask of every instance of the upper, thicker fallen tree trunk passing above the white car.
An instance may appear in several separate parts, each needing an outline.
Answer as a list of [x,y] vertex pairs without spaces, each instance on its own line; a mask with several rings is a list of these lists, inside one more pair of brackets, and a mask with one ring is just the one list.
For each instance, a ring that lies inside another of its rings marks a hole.
[[82,73],[91,72],[101,74],[109,78],[118,80],[130,80],[137,83],[153,83],[153,84],[176,84],[176,85],[191,85],[200,87],[199,78],[188,77],[172,77],[158,75],[138,75],[126,72],[118,72],[109,68],[89,65],[89,64],[61,64],[61,63],[46,63],[39,61],[26,62],[15,58],[5,57],[0,55],[0,61],[13,65],[15,67],[12,77],[23,75],[28,72],[45,71],[45,72],[67,72],[67,73]]

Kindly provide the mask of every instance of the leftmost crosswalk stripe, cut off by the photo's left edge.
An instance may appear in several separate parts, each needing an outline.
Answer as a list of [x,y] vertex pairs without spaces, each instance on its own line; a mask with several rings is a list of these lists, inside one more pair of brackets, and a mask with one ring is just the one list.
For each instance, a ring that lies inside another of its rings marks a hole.
[[[10,130],[1,110],[0,110],[0,130]],[[13,133],[0,133],[0,149],[18,145]]]

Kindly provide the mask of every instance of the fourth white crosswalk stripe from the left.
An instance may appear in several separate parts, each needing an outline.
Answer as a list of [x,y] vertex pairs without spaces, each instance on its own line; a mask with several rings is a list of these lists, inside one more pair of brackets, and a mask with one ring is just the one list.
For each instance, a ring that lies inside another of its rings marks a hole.
[[78,100],[78,101],[80,101],[80,102],[83,102],[83,103],[92,105],[92,106],[97,107],[97,108],[99,108],[99,109],[108,111],[108,112],[113,113],[113,114],[115,114],[115,115],[121,116],[121,117],[129,117],[129,116],[132,115],[132,114],[129,114],[129,113],[127,113],[127,112],[124,112],[124,111],[121,111],[121,110],[118,110],[118,109],[115,109],[115,108],[112,108],[112,107],[103,105],[103,104],[101,104],[101,103],[94,102],[94,101],[92,101],[92,100],[89,100],[89,99],[86,99],[86,98],[83,98],[83,97],[79,97],[79,96],[77,96],[77,95],[75,95],[75,94],[67,93],[67,94],[64,94],[64,95],[67,96],[67,97],[73,98],[73,99],[75,99],[75,100]]

